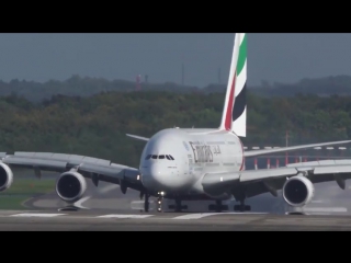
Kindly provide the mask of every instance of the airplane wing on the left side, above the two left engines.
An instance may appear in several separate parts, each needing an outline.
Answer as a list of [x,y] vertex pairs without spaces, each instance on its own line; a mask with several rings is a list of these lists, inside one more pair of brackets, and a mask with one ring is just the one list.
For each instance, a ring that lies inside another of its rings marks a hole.
[[143,188],[138,169],[112,163],[110,160],[77,155],[23,151],[16,151],[13,155],[1,152],[0,158],[3,163],[13,168],[34,169],[37,176],[41,176],[41,171],[63,173],[76,168],[77,172],[86,178],[98,174],[100,181],[120,184],[121,180],[124,180],[131,188],[137,191]]

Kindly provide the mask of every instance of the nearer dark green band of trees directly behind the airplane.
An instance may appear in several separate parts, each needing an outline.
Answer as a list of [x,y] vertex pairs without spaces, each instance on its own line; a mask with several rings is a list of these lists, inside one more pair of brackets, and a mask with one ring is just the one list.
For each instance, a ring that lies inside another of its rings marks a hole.
[[[171,127],[219,126],[224,92],[101,92],[91,96],[54,95],[32,102],[11,94],[0,98],[0,151],[55,151],[110,159],[137,167],[145,137]],[[351,98],[315,94],[247,94],[246,146],[343,140],[351,138]]]

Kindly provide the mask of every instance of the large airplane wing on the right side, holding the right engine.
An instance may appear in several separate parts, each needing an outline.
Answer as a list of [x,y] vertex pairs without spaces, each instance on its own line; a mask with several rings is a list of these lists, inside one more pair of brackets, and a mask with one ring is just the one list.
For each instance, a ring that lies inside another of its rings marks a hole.
[[285,181],[299,173],[306,173],[312,183],[337,182],[344,190],[346,180],[351,179],[351,160],[322,160],[288,164],[276,169],[246,170],[237,173],[211,173],[202,180],[208,193],[235,192],[245,187],[246,196],[253,197],[263,193],[278,196]]

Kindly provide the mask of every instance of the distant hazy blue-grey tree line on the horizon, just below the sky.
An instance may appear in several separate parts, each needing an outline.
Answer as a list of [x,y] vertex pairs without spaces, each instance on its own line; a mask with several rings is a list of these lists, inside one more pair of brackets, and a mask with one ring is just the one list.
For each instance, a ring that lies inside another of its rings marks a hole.
[[[144,91],[165,91],[174,93],[223,93],[226,83],[212,83],[206,87],[181,85],[173,82],[152,83],[141,82]],[[10,82],[0,81],[0,96],[18,94],[32,102],[49,100],[53,95],[90,96],[101,92],[118,91],[133,92],[137,89],[135,81],[105,80],[102,78],[82,78],[73,75],[65,81],[49,80],[44,83],[14,79]],[[350,95],[351,77],[337,76],[319,79],[303,79],[296,83],[270,83],[262,81],[259,85],[249,85],[248,89],[262,96],[295,96],[297,93],[318,94],[330,96],[332,94]]]

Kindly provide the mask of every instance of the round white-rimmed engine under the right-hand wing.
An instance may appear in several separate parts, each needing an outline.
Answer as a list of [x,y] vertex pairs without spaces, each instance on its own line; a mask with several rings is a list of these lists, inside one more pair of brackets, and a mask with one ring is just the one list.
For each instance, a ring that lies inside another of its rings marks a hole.
[[314,184],[304,176],[288,179],[283,186],[284,201],[294,207],[307,205],[315,195]]

